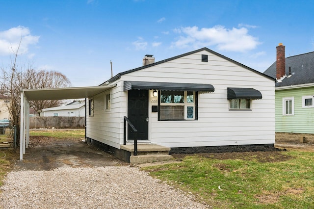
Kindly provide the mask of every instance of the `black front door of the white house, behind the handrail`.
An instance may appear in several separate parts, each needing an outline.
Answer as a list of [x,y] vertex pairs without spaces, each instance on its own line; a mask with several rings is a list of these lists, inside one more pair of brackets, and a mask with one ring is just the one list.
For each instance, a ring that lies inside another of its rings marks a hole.
[[[128,91],[128,118],[137,129],[138,140],[148,140],[148,90]],[[134,133],[128,127],[128,140],[134,139]]]

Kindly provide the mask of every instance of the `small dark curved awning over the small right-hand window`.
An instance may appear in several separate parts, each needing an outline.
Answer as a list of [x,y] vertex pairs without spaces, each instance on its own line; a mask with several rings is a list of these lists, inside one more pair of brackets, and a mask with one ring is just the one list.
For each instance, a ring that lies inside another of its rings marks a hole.
[[228,100],[232,99],[260,100],[262,94],[254,88],[228,88]]

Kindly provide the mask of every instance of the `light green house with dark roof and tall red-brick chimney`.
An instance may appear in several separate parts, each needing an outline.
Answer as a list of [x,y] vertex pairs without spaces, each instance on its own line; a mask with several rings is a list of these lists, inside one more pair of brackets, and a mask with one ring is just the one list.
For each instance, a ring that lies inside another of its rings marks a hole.
[[279,44],[277,61],[264,74],[277,79],[276,139],[314,141],[314,52],[286,58]]

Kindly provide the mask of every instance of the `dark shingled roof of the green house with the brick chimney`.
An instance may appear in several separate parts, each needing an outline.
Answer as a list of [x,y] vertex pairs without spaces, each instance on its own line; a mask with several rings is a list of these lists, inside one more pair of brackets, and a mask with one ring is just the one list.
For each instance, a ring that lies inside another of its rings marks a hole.
[[[290,77],[289,67],[291,67]],[[276,62],[274,62],[264,74],[276,78]],[[314,83],[314,52],[287,57],[286,75],[286,78],[276,83],[276,87]]]

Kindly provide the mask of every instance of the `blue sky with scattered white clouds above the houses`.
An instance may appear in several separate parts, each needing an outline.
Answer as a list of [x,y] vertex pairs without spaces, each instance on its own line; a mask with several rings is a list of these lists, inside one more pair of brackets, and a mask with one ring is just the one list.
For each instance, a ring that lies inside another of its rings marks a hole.
[[314,51],[312,0],[1,0],[0,66],[58,71],[73,86],[207,47],[264,72],[276,60]]

